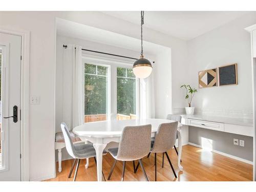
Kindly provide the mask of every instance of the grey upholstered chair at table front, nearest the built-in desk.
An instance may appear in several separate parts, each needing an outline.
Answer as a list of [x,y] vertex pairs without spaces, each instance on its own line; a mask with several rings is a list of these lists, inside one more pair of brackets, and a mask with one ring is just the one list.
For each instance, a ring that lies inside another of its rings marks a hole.
[[[172,123],[162,123],[159,125],[154,141],[151,142],[151,153],[155,153],[155,181],[157,180],[157,153],[166,155],[174,176],[177,178],[172,162],[169,159],[167,151],[173,148],[176,142],[178,121]],[[135,169],[137,171],[138,165]]]

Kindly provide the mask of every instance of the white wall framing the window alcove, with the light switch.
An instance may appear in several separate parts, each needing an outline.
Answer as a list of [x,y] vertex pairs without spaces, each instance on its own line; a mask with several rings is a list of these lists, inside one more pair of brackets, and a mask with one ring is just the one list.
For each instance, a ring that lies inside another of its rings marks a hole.
[[[0,12],[0,27],[31,32],[30,95],[39,96],[40,104],[29,108],[30,180],[43,180],[55,175],[55,17],[140,38],[138,25],[100,12]],[[150,29],[144,32],[145,40],[172,48],[173,66],[185,65],[185,41]],[[173,73],[179,73],[178,69],[174,68]],[[185,80],[179,77],[178,81]],[[175,91],[174,105],[183,106],[185,101],[179,97],[181,91]]]

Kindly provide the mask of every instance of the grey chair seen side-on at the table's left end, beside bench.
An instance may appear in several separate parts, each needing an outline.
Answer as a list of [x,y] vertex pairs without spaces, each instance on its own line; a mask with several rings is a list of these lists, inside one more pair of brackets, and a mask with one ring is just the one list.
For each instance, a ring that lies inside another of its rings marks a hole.
[[[97,162],[96,162],[96,158],[95,158],[96,157],[96,151],[95,151],[95,148],[93,147],[92,143],[89,143],[89,144],[75,143],[74,144],[72,142],[72,137],[70,135],[67,124],[62,122],[60,124],[60,126],[61,126],[61,131],[62,131],[63,136],[64,136],[67,151],[68,151],[69,155],[74,158],[74,162],[72,164],[72,167],[71,167],[71,170],[70,170],[70,173],[69,173],[69,178],[71,177],[71,174],[73,172],[75,163],[77,161],[74,180],[73,180],[73,181],[75,181],[76,176],[77,176],[77,172],[78,172],[79,163],[80,163],[81,159],[94,157],[94,160],[95,160],[95,163],[96,163],[96,166],[97,166]],[[106,155],[105,151],[103,151],[103,155]],[[104,177],[103,172],[102,172],[102,176]],[[104,177],[104,179],[105,179],[105,177]]]

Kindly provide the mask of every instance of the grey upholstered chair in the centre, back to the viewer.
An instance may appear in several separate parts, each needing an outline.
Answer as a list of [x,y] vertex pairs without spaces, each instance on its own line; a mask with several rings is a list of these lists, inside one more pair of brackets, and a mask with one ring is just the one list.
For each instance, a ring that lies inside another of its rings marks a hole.
[[[122,131],[118,148],[109,148],[110,154],[115,158],[108,180],[113,173],[117,161],[123,161],[122,179],[124,180],[124,170],[126,161],[139,160],[143,174],[148,181],[141,159],[150,152],[151,149],[151,124],[141,126],[126,126]],[[135,163],[134,163],[135,168]]]

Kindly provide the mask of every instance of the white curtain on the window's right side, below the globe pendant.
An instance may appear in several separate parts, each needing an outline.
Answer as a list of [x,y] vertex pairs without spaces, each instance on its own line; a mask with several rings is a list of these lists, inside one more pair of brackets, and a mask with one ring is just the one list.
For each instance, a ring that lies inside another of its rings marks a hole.
[[154,73],[140,79],[140,118],[155,118]]

